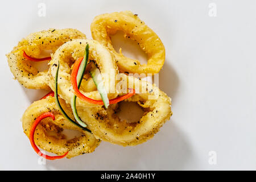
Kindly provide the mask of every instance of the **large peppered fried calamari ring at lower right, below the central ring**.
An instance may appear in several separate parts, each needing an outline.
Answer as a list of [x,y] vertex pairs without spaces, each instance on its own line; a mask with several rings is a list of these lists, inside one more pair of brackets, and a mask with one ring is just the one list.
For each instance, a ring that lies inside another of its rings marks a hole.
[[81,119],[86,121],[96,138],[122,146],[134,146],[152,138],[160,127],[170,119],[172,115],[171,98],[158,87],[146,81],[121,75],[127,80],[129,88],[132,88],[130,86],[132,84],[135,90],[138,88],[141,90],[141,93],[125,100],[137,102],[142,106],[144,115],[137,123],[121,121],[115,115],[118,104],[110,105],[108,109],[104,107],[80,107],[78,113]]

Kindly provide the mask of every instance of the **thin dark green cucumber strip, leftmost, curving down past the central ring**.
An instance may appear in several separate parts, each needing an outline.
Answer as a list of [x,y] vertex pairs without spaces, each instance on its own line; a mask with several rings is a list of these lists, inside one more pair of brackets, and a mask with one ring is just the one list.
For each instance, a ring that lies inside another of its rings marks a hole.
[[59,75],[59,68],[60,68],[60,63],[58,63],[58,65],[57,65],[57,71],[56,71],[56,75],[55,75],[55,92],[54,92],[54,97],[55,97],[56,105],[57,105],[57,107],[59,107],[60,113],[63,114],[64,117],[66,119],[68,119],[68,121],[72,122],[74,125],[79,126],[79,127],[81,127],[81,129],[92,133],[92,131],[90,131],[86,127],[80,126],[78,123],[73,121],[73,119],[69,118],[67,113],[65,113],[64,109],[61,107],[60,101],[59,101],[59,97],[58,97],[58,75]]

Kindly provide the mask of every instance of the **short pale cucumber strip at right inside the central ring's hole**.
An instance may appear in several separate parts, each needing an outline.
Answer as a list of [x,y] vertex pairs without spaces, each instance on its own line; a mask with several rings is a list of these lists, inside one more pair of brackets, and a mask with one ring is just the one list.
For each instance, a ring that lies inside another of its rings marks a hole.
[[101,77],[100,69],[98,69],[95,64],[93,64],[92,69],[90,70],[90,75],[92,76],[93,82],[97,86],[98,92],[101,95],[104,106],[107,109],[109,106],[108,93],[106,92],[106,89]]

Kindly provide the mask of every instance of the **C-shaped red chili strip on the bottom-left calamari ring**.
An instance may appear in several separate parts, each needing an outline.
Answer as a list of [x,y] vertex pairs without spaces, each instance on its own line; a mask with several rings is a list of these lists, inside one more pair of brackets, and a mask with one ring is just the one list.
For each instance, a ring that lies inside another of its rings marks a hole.
[[44,155],[39,150],[38,146],[36,146],[36,144],[35,144],[34,134],[35,134],[36,126],[38,126],[39,122],[42,121],[42,119],[48,118],[48,117],[51,117],[53,120],[55,120],[55,116],[51,112],[48,112],[48,113],[44,113],[44,114],[40,115],[38,118],[35,119],[35,122],[32,124],[32,127],[30,129],[30,143],[31,143],[31,146],[34,148],[36,154],[42,156],[43,158],[46,158],[46,159],[49,159],[49,160],[64,158],[68,154],[68,151],[64,155],[59,155],[59,156]]

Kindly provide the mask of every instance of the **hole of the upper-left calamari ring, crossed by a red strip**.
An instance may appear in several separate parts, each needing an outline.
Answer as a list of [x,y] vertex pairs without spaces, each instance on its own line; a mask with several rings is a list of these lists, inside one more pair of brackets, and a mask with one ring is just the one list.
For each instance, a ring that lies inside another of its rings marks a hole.
[[[43,50],[40,55],[35,58],[50,57],[52,50]],[[32,56],[33,57],[33,56]],[[29,61],[29,60],[28,60]],[[29,61],[32,67],[36,68],[39,72],[43,72],[49,69],[49,61]]]

